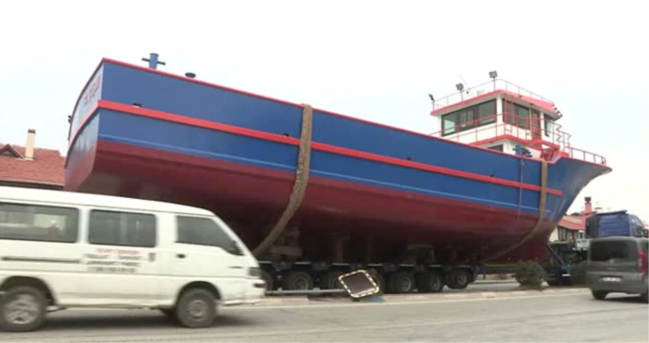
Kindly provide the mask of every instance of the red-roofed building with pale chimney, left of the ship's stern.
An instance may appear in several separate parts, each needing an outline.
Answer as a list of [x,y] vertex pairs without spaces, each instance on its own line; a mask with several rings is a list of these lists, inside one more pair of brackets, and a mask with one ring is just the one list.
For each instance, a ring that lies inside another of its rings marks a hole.
[[0,185],[63,189],[66,159],[35,142],[36,130],[30,129],[24,147],[0,143]]

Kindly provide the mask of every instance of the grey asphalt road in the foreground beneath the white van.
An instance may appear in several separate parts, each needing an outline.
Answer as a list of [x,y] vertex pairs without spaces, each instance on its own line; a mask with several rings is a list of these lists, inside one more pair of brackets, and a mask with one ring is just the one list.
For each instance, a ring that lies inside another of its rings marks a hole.
[[0,342],[648,342],[649,304],[598,302],[587,290],[502,298],[393,296],[384,303],[310,302],[221,308],[214,327],[177,327],[156,311],[68,310]]

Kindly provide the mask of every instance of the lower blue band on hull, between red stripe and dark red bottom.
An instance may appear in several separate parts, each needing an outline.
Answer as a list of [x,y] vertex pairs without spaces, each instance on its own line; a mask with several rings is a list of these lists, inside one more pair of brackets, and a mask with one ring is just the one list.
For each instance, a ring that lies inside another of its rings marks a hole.
[[[250,137],[101,110],[99,139],[158,148],[171,152],[247,163],[283,171],[294,171],[297,147]],[[456,156],[461,159],[461,156]],[[493,183],[467,180],[376,161],[360,160],[313,150],[312,174],[335,180],[387,187],[398,191],[442,196],[518,209],[519,189]],[[539,193],[522,192],[522,211],[538,213]],[[561,206],[563,198],[548,196],[548,215]]]

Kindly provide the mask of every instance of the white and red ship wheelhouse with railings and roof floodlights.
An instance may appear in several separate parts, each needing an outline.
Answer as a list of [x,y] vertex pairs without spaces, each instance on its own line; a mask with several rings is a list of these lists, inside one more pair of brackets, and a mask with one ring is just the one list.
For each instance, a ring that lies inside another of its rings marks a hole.
[[431,115],[438,118],[432,136],[506,154],[545,160],[565,156],[606,165],[604,157],[570,146],[570,134],[557,123],[561,112],[554,102],[498,78],[456,88],[458,92],[441,99],[430,95]]

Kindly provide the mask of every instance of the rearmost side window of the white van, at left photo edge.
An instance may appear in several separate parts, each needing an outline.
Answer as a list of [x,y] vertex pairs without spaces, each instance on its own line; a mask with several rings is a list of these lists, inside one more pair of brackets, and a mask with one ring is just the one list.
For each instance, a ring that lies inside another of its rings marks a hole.
[[0,202],[0,239],[73,243],[78,232],[76,208]]

